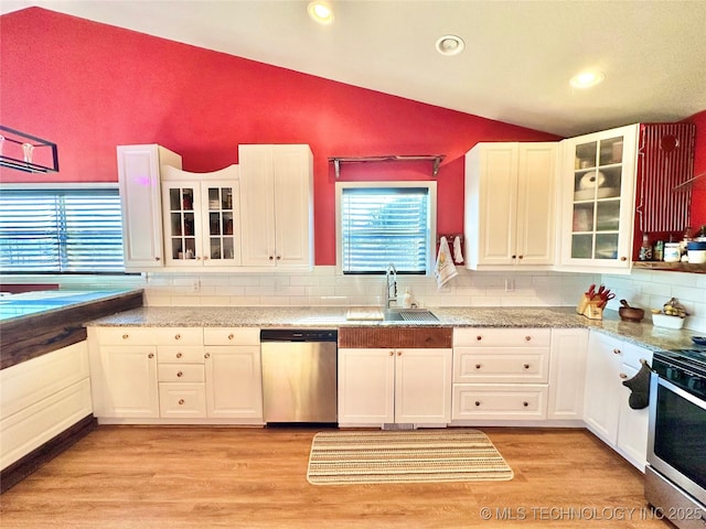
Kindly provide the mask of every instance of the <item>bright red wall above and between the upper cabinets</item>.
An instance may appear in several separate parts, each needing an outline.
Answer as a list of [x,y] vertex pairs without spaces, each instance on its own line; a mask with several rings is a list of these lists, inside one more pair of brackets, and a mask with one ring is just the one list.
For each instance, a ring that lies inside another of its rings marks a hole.
[[[0,122],[58,144],[60,173],[3,182],[114,182],[115,147],[160,143],[188,171],[237,163],[239,143],[309,143],[315,262],[334,264],[329,156],[446,154],[439,233],[463,228],[463,154],[556,136],[299,74],[40,8],[0,17]],[[704,118],[699,128],[706,130]],[[706,164],[700,144],[700,168]],[[346,180],[430,180],[429,163],[347,165]]]

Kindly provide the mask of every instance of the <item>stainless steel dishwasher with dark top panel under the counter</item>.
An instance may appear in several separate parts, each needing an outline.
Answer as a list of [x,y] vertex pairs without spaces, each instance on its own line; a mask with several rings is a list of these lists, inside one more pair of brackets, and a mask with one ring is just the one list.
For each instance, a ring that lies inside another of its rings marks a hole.
[[272,423],[335,423],[338,331],[263,330],[263,414]]

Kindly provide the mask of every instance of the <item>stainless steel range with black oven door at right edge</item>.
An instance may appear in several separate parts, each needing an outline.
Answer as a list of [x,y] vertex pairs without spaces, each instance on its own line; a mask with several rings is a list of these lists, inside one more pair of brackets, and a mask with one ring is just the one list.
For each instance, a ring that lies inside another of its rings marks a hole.
[[706,348],[654,353],[645,498],[683,529],[706,528]]

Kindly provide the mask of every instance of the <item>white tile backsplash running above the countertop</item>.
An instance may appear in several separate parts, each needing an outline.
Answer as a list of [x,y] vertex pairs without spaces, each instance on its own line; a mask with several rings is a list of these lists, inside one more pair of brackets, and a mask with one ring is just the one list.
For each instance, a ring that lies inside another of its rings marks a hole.
[[[691,314],[685,326],[706,332],[706,274],[633,270],[629,276],[565,272],[474,272],[457,267],[458,276],[441,290],[432,278],[397,276],[402,300],[409,288],[420,306],[574,306],[591,283],[606,284],[619,300],[645,309],[677,298]],[[335,267],[312,272],[148,273],[142,276],[7,277],[3,282],[51,283],[62,289],[142,288],[150,306],[223,305],[379,305],[384,278],[341,276]],[[402,302],[400,302],[402,304]]]

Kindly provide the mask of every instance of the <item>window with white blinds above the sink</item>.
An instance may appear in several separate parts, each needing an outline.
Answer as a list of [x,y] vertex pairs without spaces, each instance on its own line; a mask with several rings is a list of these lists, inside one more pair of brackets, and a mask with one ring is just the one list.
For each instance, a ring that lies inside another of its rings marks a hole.
[[339,183],[336,205],[343,273],[429,272],[436,182]]

